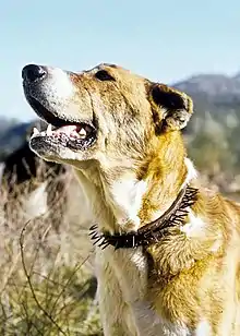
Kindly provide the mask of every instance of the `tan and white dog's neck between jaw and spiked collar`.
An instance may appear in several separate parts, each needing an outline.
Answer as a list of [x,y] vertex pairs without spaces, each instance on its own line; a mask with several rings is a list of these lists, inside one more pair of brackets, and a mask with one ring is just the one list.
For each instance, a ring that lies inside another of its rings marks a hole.
[[[139,230],[159,218],[195,177],[180,134],[172,132],[167,137],[164,134],[151,148],[139,165],[103,169],[92,163],[87,169],[76,171],[84,176],[80,180],[82,183],[84,180],[83,189],[100,230],[110,233]],[[116,175],[116,170],[120,173]]]

